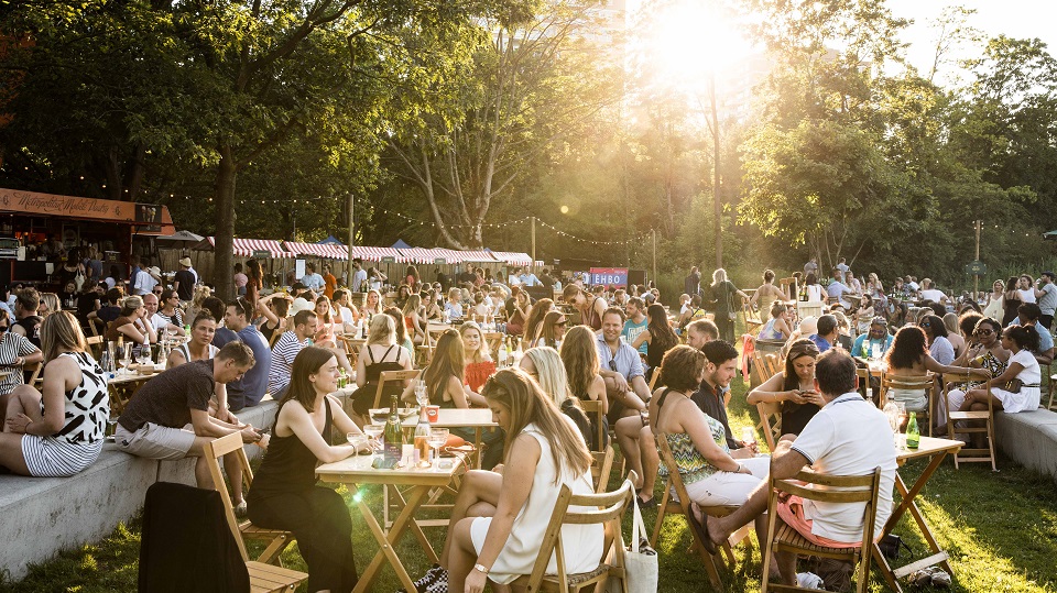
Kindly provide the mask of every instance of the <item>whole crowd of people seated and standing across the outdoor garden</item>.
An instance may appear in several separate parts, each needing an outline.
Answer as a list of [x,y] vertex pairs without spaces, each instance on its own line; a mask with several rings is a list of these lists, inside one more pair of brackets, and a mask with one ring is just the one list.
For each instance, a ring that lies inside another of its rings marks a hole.
[[[963,374],[966,383],[941,405],[978,409],[992,398],[1015,413],[1038,406],[1039,364],[1054,353],[1051,273],[1038,283],[1015,279],[1024,287],[1012,293],[995,283],[980,304],[952,298],[928,278],[900,278],[885,292],[876,275],[862,283],[844,262],[825,286],[809,262],[793,290],[766,271],[752,296],[723,270],[702,285],[694,268],[669,310],[654,286],[563,286],[549,270],[536,276],[527,268],[505,278],[437,270],[428,283],[408,266],[388,304],[389,278],[359,261],[352,285],[366,295],[358,304],[326,266],[323,274],[308,266],[288,292],[262,295],[254,261],[236,271],[240,296],[224,301],[189,264],[181,261],[171,284],[139,266],[124,285],[88,278],[68,311],[62,297],[51,303],[33,288],[0,304],[0,365],[13,370],[0,378],[0,466],[72,475],[98,458],[109,397],[86,333],[135,344],[183,337],[159,361],[166,370],[117,419],[118,448],[151,459],[198,458],[203,487],[213,486],[201,460],[210,439],[237,432],[264,448],[246,496],[237,455],[225,459],[232,501],[254,524],[295,534],[312,591],[350,591],[357,580],[348,509],[316,485],[314,468],[357,453],[334,444],[344,440],[333,435],[371,422],[384,371],[422,366],[432,404],[488,408],[499,425],[484,433],[482,469],[461,482],[440,563],[416,583],[419,591],[479,591],[486,579],[504,585],[531,570],[558,490],[593,492],[591,452],[607,447],[610,433],[636,476],[635,504],[656,506],[657,477],[669,470],[658,454],[663,438],[696,505],[740,507],[721,519],[699,510],[687,517],[710,551],[749,523],[762,541],[769,472],[786,477],[807,465],[835,474],[880,466],[880,529],[891,512],[895,450],[884,415],[857,392],[853,356],[883,358],[892,375]],[[824,315],[797,319],[793,301],[800,298],[822,304]],[[1011,303],[1015,315],[1005,319]],[[747,396],[781,409],[785,436],[771,457],[759,455],[754,439],[735,438],[727,414],[740,356],[734,322],[745,304],[763,314],[756,338],[783,344],[782,370]],[[429,323],[437,321],[453,328],[435,336]],[[516,355],[497,360],[492,333],[515,342]],[[350,355],[345,336],[366,341]],[[22,373],[35,363],[44,365],[40,388]],[[330,396],[342,376],[355,386],[345,405]],[[413,400],[414,388],[411,381],[386,384],[383,396]],[[240,421],[237,414],[265,393],[279,402],[269,430]],[[908,410],[925,405],[924,393],[894,389],[890,397]],[[598,402],[602,414],[586,414],[584,402]],[[862,530],[861,508],[805,513],[789,499],[778,513],[819,545],[853,545]],[[564,530],[563,538],[569,572],[601,560],[600,527]],[[795,581],[795,559],[775,560],[782,580]]]

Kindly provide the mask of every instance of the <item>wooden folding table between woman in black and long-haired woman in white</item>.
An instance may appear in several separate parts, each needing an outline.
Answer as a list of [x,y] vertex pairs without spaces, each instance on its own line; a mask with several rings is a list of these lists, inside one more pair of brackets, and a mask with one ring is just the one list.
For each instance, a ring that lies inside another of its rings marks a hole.
[[[442,410],[443,411],[443,410]],[[440,469],[416,469],[404,468],[399,470],[375,470],[371,466],[371,455],[353,455],[335,463],[325,463],[316,468],[316,474],[323,482],[348,484],[350,490],[356,490],[360,484],[382,484],[384,486],[410,486],[404,493],[406,498],[404,507],[393,521],[392,528],[386,535],[382,530],[378,519],[371,508],[363,501],[363,497],[355,497],[357,506],[360,507],[360,514],[368,528],[378,541],[379,550],[367,565],[367,569],[360,573],[360,580],[353,589],[353,593],[370,591],[374,579],[378,576],[382,562],[389,561],[389,564],[396,572],[400,582],[403,583],[404,591],[414,591],[415,583],[404,569],[404,564],[396,554],[396,542],[408,528],[418,539],[418,545],[425,552],[429,562],[438,562],[437,553],[434,551],[429,540],[426,539],[422,528],[415,523],[415,512],[426,501],[429,491],[435,487],[444,487],[451,482],[457,472],[461,471],[462,464],[458,458],[451,458],[451,468]]]

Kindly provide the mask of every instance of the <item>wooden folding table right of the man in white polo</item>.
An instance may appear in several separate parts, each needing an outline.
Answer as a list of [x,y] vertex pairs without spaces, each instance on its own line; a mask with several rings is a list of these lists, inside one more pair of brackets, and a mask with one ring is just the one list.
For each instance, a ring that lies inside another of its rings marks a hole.
[[929,529],[928,524],[925,521],[925,517],[922,515],[922,512],[917,507],[917,503],[914,502],[914,498],[916,498],[917,494],[923,487],[925,487],[925,484],[939,468],[939,464],[944,462],[944,458],[946,458],[948,453],[957,453],[959,450],[961,450],[963,444],[965,443],[957,440],[938,439],[935,437],[923,436],[920,446],[917,449],[912,450],[901,448],[896,451],[896,462],[901,466],[907,461],[925,458],[928,458],[928,465],[917,477],[917,481],[914,482],[914,485],[909,488],[906,487],[906,483],[903,482],[903,476],[900,475],[900,472],[895,472],[895,487],[903,497],[903,501],[900,503],[900,506],[892,510],[889,521],[884,524],[884,535],[892,532],[892,529],[895,528],[896,524],[900,523],[903,514],[909,510],[911,516],[914,517],[918,529],[922,531],[922,537],[925,539],[925,542],[928,545],[928,548],[933,553],[931,556],[893,570],[892,567],[889,565],[887,559],[881,553],[881,549],[876,546],[876,543],[874,543],[874,559],[876,560],[878,568],[881,569],[881,573],[884,574],[884,580],[889,584],[889,589],[892,591],[902,593],[903,589],[900,586],[898,580],[916,570],[920,570],[926,567],[939,564],[944,570],[947,571],[948,574],[954,575],[954,571],[950,568],[950,562],[948,562],[948,558],[950,557],[939,547],[939,543],[936,542],[936,537],[933,535],[931,529]]

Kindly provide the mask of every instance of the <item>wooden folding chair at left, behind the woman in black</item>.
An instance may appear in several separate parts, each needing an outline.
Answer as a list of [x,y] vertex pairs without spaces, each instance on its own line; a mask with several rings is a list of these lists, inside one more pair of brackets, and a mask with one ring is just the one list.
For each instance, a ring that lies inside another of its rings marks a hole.
[[[224,473],[220,471],[220,462],[218,461],[221,457],[235,451],[236,449],[240,452],[242,451],[242,436],[236,432],[233,435],[228,435],[227,437],[215,439],[210,442],[207,442],[205,449],[206,454],[204,455],[204,459],[209,466],[209,474],[213,476],[213,484],[217,492],[220,493],[220,499],[224,501],[224,515],[228,520],[228,528],[231,529],[231,535],[235,536],[235,541],[239,545],[239,553],[242,554],[242,560],[246,562],[246,568],[250,572],[251,591],[253,591],[253,593],[293,591],[299,583],[308,579],[307,573],[269,564],[261,560],[250,560],[249,554],[246,552],[246,542],[242,541],[242,538],[251,536],[241,530],[241,526],[239,525],[238,519],[235,517],[235,509],[231,508],[231,497],[228,495],[228,488],[225,486]],[[244,452],[240,453],[239,459],[242,463],[242,475],[244,479],[250,470],[250,464],[246,460]],[[259,531],[254,532],[253,535],[263,535],[265,531],[270,530],[259,529]],[[277,558],[283,548],[290,545],[291,535],[287,531],[273,532],[283,534],[283,541],[277,546],[277,550],[273,549],[276,546],[276,543],[273,541],[268,549],[264,550],[264,553],[272,553],[273,558]],[[261,557],[263,558],[264,554]]]

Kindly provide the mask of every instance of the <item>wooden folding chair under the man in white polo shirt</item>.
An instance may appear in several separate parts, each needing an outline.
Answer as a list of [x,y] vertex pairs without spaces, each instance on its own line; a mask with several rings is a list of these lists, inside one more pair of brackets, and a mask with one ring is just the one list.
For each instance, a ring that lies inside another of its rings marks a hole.
[[[876,468],[867,475],[826,475],[809,470],[802,470],[792,480],[778,480],[771,473],[771,495],[767,502],[767,542],[763,552],[763,585],[762,591],[814,591],[794,585],[773,584],[767,581],[771,570],[771,557],[774,551],[789,551],[804,556],[836,558],[858,564],[856,591],[865,593],[870,590],[870,559],[872,554],[880,554],[881,550],[873,542],[873,526],[878,515],[879,486],[881,485],[881,468]],[[813,488],[809,485],[824,486],[826,490]],[[796,529],[785,523],[777,527],[777,502],[780,493],[795,494],[804,499],[826,503],[862,503],[862,542],[854,548],[828,548],[817,546],[804,538]]]

